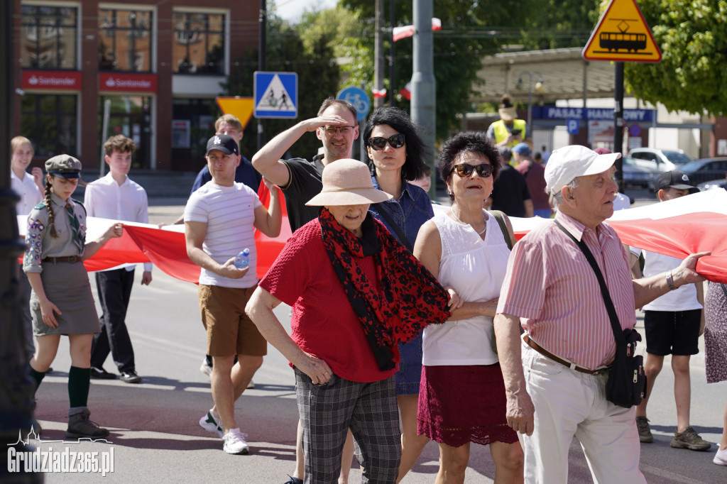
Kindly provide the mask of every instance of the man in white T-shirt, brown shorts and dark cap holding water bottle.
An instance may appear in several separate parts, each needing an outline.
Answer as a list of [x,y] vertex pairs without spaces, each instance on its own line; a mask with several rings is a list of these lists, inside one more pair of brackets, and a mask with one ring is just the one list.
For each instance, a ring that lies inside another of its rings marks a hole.
[[[214,406],[200,426],[222,437],[227,453],[246,454],[246,434],[235,420],[235,401],[242,395],[268,348],[245,314],[245,304],[257,287],[254,229],[277,237],[281,227],[280,189],[270,189],[270,211],[252,188],[235,182],[240,163],[237,142],[215,134],[207,142],[206,160],[212,180],[194,192],[184,212],[187,254],[202,268],[199,308],[212,355]],[[236,254],[249,249],[249,266],[238,269]],[[235,356],[238,363],[234,363]]]

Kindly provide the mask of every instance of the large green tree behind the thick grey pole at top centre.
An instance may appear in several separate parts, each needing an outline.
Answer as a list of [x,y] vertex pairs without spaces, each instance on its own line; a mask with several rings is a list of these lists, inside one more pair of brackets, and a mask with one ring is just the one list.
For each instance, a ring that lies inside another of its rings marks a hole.
[[[364,82],[371,90],[374,78],[374,1],[343,0],[341,4],[357,12],[364,36],[348,39],[352,62],[345,66],[350,84]],[[388,4],[388,2],[385,2]],[[470,97],[481,80],[477,72],[485,55],[498,52],[502,44],[521,39],[521,25],[525,25],[527,12],[537,0],[522,0],[518,8],[507,1],[438,0],[433,16],[442,21],[442,30],[434,33],[434,76],[436,81],[436,136],[443,139],[458,129],[458,115],[472,110]],[[384,12],[388,22],[388,10]],[[395,26],[414,23],[412,2],[395,3]],[[387,36],[390,35],[387,33]],[[389,52],[388,39],[384,51]],[[400,91],[412,75],[413,41],[411,38],[395,43],[395,84],[385,80],[385,87]],[[409,101],[398,100],[401,108],[409,110]]]

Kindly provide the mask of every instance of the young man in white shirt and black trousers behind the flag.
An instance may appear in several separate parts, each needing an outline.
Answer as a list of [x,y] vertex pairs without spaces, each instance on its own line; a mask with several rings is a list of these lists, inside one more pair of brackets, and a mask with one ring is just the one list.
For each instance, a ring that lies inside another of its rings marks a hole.
[[[146,191],[129,177],[132,154],[136,143],[117,134],[103,145],[108,174],[86,187],[84,204],[89,217],[124,220],[127,222],[149,222]],[[145,262],[142,285],[151,282],[151,263]],[[126,308],[134,285],[134,267],[106,270],[96,273],[96,286],[103,314],[101,332],[95,334],[91,350],[91,376],[95,379],[116,379],[116,374],[103,369],[103,363],[111,353],[119,368],[121,381],[139,383],[136,372],[134,347],[126,329]]]

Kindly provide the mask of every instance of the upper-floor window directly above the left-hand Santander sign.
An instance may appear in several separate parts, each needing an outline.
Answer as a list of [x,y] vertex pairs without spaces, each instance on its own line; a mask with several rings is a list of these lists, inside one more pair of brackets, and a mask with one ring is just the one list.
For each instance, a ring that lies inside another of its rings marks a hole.
[[24,68],[76,69],[75,8],[23,5],[20,16],[20,57]]

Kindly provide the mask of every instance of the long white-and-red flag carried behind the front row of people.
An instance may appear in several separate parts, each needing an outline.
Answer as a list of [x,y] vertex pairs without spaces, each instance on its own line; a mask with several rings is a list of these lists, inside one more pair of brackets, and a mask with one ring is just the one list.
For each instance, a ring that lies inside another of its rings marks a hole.
[[[267,188],[258,192],[269,203]],[[435,211],[446,207],[434,205]],[[283,229],[276,238],[255,234],[257,275],[262,278],[278,257],[290,237],[290,225],[284,212]],[[522,238],[532,228],[551,219],[511,217],[515,237]],[[27,217],[17,217],[21,235],[25,234]],[[89,217],[87,240],[98,238],[116,220]],[[124,235],[112,238],[87,261],[87,270],[108,270],[124,265],[152,262],[172,277],[197,283],[199,267],[187,257],[184,227],[124,223]],[[608,225],[614,227],[623,243],[659,254],[684,259],[688,254],[711,251],[696,266],[697,272],[710,281],[727,283],[727,192],[707,190],[662,203],[616,211]]]

